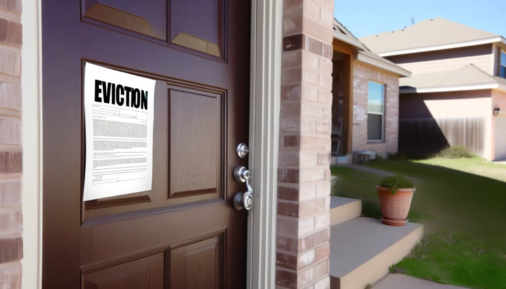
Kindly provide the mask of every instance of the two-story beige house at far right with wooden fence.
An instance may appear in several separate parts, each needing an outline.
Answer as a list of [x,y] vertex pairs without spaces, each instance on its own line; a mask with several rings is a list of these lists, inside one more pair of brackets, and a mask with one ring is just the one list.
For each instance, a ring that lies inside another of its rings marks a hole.
[[489,160],[506,158],[503,36],[435,18],[360,41],[412,72],[400,80],[400,151],[463,145]]

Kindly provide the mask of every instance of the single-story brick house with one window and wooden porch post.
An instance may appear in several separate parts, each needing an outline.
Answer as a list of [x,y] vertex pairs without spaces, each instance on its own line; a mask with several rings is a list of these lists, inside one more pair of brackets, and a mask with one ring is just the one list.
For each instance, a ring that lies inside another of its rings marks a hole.
[[335,19],[333,29],[332,161],[350,161],[362,150],[396,153],[399,78],[411,73],[371,52]]

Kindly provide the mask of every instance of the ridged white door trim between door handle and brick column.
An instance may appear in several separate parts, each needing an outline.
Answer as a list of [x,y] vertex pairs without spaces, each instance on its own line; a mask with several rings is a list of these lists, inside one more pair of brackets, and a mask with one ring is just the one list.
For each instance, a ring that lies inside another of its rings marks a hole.
[[282,0],[251,0],[247,288],[274,288]]

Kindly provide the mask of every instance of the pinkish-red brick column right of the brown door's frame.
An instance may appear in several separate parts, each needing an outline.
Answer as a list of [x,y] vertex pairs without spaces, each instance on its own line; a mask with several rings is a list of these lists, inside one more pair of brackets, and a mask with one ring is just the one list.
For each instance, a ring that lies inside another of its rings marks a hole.
[[333,0],[285,0],[276,285],[329,288]]

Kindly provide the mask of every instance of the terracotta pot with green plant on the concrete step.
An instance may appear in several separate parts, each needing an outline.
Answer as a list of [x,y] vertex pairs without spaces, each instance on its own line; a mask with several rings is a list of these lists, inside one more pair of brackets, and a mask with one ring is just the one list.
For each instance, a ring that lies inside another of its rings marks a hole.
[[409,208],[416,190],[413,180],[403,175],[388,176],[376,186],[381,205],[383,223],[404,226],[408,220]]

